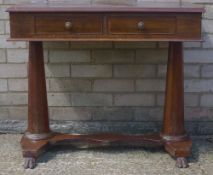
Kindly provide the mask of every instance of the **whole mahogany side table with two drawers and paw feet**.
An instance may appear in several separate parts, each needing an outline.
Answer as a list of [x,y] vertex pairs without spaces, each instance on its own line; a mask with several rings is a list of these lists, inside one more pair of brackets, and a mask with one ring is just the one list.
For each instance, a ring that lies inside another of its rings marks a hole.
[[[188,166],[192,141],[184,128],[184,41],[201,41],[204,9],[178,3],[138,2],[131,5],[39,2],[15,5],[10,14],[11,41],[29,41],[28,129],[21,140],[25,168],[49,146],[157,145]],[[145,135],[54,133],[49,127],[43,41],[168,41],[163,129]]]

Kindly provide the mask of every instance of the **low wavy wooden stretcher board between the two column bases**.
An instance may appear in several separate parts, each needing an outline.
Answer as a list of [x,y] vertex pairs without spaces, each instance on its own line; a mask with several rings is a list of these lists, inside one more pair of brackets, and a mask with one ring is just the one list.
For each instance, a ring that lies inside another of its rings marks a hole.
[[68,144],[70,145],[84,145],[85,143],[90,146],[162,146],[164,144],[159,134],[146,134],[146,135],[122,135],[122,134],[90,134],[90,135],[71,135],[71,134],[56,134],[49,139],[51,145],[55,144]]

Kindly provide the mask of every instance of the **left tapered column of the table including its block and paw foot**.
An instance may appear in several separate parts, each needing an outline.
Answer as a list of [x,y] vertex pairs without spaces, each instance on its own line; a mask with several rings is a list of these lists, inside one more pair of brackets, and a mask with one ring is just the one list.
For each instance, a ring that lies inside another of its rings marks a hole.
[[34,168],[51,137],[42,42],[29,43],[28,128],[21,140],[25,168]]

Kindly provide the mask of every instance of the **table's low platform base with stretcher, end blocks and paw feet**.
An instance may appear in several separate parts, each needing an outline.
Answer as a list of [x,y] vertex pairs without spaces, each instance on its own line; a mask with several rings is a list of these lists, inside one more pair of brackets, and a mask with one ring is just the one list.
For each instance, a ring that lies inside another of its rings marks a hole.
[[178,168],[188,167],[186,157],[191,154],[190,138],[182,141],[166,141],[160,134],[122,135],[122,134],[89,134],[72,135],[53,133],[51,137],[32,140],[26,135],[21,140],[25,168],[36,167],[36,160],[50,146],[71,145],[77,148],[107,147],[107,146],[164,146],[165,150],[177,158]]

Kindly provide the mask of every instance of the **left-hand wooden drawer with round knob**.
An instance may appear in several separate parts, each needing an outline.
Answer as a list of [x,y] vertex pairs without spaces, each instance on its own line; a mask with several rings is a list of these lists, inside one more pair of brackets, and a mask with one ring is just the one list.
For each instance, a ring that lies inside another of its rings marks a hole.
[[100,34],[102,17],[97,15],[35,16],[36,34]]

